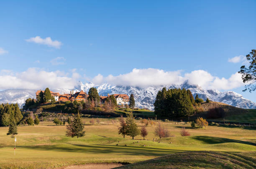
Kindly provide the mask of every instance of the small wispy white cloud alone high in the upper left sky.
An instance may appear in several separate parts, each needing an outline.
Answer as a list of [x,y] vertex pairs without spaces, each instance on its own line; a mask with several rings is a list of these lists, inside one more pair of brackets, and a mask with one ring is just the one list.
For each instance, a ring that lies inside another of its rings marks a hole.
[[41,38],[40,36],[32,37],[29,39],[26,39],[27,42],[33,42],[43,45],[48,45],[49,47],[57,48],[59,49],[62,43],[58,40],[51,40],[50,37],[47,37],[45,39]]

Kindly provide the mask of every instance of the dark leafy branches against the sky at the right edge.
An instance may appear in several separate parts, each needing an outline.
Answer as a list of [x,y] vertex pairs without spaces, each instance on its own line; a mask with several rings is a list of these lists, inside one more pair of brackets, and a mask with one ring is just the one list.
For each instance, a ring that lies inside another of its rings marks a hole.
[[246,55],[246,59],[249,61],[250,65],[248,68],[241,66],[238,73],[242,74],[243,83],[248,83],[243,91],[248,90],[251,92],[256,90],[256,50],[251,50],[251,52]]

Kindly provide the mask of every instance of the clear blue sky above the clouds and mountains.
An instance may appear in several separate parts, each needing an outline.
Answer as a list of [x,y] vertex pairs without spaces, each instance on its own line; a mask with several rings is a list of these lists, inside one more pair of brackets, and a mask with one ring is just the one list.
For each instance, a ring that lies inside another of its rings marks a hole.
[[[141,76],[148,68],[163,70],[168,74],[164,78],[172,78],[170,72],[179,71],[184,78],[186,73],[202,70],[218,81],[228,80],[225,87],[208,81],[201,83],[204,87],[233,90],[256,101],[255,92],[242,92],[243,84],[230,79],[243,64],[243,56],[256,48],[255,6],[254,0],[3,1],[1,76],[18,79],[16,86],[8,84],[20,88],[18,83],[26,84],[41,71],[66,79],[103,82],[110,81],[109,75],[118,81],[127,73],[132,77],[134,68],[143,70]],[[29,41],[36,36],[40,43]],[[57,45],[44,41],[47,37],[57,40]],[[241,59],[228,61],[236,56]],[[31,73],[31,78],[24,82],[20,78],[26,73]],[[0,81],[0,89],[8,87],[3,84],[7,80]],[[192,81],[196,80],[202,79]]]

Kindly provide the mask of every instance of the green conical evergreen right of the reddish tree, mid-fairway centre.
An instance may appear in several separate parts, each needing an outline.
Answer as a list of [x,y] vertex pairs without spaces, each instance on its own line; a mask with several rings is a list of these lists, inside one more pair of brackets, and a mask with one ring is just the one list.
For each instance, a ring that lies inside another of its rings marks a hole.
[[133,137],[133,140],[134,140],[134,137],[138,136],[141,133],[141,131],[140,129],[138,129],[138,126],[135,122],[135,119],[132,113],[127,116],[126,124],[128,128],[127,135]]

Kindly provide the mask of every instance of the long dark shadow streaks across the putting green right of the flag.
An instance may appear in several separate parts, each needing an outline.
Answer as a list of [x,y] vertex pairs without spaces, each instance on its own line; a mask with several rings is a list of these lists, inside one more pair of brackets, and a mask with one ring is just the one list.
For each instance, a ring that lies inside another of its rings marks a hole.
[[42,151],[61,151],[61,152],[79,152],[93,154],[120,154],[120,155],[144,155],[144,156],[163,156],[170,153],[181,152],[172,149],[158,149],[136,146],[112,146],[112,145],[84,145],[84,144],[66,144],[56,146],[19,146],[20,148],[42,150]]

